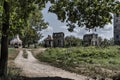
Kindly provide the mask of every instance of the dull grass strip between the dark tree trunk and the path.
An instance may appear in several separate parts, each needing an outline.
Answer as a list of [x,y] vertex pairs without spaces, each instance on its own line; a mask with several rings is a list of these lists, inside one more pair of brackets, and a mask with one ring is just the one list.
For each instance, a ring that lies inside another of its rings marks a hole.
[[8,80],[23,80],[22,77],[20,77],[21,70],[17,68],[14,64],[14,59],[17,57],[19,53],[18,49],[15,48],[9,48],[9,54],[8,54]]

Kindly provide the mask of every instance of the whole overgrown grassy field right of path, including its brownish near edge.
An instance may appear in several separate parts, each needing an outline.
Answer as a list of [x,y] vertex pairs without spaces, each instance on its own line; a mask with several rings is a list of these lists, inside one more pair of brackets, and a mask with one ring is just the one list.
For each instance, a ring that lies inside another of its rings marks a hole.
[[120,47],[50,48],[36,57],[43,62],[87,76],[111,78],[120,70]]

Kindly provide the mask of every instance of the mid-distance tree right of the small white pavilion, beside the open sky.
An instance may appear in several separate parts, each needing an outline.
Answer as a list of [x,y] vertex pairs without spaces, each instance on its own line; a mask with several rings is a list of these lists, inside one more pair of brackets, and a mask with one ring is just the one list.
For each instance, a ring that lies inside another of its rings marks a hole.
[[29,22],[30,27],[26,28],[24,35],[21,35],[23,47],[25,47],[25,45],[29,47],[30,44],[35,45],[38,40],[42,38],[40,31],[48,27],[48,23],[44,22],[43,15],[38,7],[32,11]]

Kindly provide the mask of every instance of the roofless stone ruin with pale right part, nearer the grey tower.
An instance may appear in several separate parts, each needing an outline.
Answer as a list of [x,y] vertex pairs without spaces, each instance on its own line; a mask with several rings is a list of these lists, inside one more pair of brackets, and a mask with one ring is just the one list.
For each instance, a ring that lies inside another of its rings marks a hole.
[[83,36],[84,46],[97,46],[99,45],[98,34],[85,34]]

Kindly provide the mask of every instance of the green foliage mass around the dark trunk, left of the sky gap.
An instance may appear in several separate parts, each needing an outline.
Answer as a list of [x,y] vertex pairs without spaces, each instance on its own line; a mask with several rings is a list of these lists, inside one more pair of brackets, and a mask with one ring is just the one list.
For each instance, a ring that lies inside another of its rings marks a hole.
[[[46,23],[42,19],[41,10],[45,7],[46,1],[44,0],[0,0],[0,20],[5,16],[4,12],[4,1],[10,5],[9,11],[9,34],[23,34],[26,27],[31,26],[30,20],[34,18],[32,25],[36,25],[37,29],[46,28]],[[35,16],[34,16],[35,15]],[[36,18],[36,20],[35,20]],[[39,22],[38,22],[39,21]],[[0,21],[4,22],[3,20]],[[39,23],[39,24],[38,24]],[[0,26],[2,29],[2,26]]]

